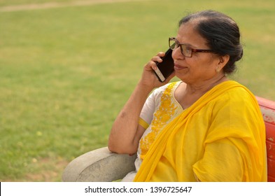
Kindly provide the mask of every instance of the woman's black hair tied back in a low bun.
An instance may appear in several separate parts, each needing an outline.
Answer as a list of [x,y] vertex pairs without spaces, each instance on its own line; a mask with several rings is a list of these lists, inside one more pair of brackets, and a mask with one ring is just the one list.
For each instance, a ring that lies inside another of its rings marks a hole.
[[187,15],[181,19],[179,26],[189,21],[196,21],[195,30],[206,39],[206,44],[213,50],[213,53],[230,56],[223,72],[234,72],[235,63],[243,56],[237,23],[229,16],[214,10],[204,10]]

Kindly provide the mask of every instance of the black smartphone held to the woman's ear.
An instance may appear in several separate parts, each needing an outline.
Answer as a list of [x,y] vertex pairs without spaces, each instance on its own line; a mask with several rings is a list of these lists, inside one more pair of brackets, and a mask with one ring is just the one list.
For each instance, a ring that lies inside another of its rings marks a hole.
[[155,71],[155,75],[160,80],[160,82],[164,82],[174,71],[174,59],[172,58],[172,51],[170,48],[165,52],[164,57],[162,57],[162,62],[156,62],[157,70]]

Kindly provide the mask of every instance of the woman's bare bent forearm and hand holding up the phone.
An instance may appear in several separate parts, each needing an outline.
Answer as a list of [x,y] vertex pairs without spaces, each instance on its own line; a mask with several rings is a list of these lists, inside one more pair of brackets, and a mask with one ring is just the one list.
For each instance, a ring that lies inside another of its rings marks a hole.
[[171,74],[165,83],[160,81],[155,76],[153,69],[156,69],[155,62],[162,62],[160,57],[164,56],[164,52],[160,52],[153,57],[143,68],[141,80],[136,85],[127,103],[120,111],[118,117],[113,123],[111,134],[108,140],[108,148],[115,153],[136,153],[145,129],[139,125],[139,116],[141,109],[150,92],[155,87],[160,87],[167,84],[174,74]]

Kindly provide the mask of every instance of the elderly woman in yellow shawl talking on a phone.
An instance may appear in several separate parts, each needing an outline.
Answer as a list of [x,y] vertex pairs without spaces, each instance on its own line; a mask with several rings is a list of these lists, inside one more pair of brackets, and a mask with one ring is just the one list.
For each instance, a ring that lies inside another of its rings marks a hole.
[[[153,57],[113,124],[110,151],[138,155],[122,181],[267,181],[258,102],[227,78],[243,55],[236,22],[193,13],[169,45],[174,73],[157,80],[164,52]],[[181,81],[168,83],[174,76]]]

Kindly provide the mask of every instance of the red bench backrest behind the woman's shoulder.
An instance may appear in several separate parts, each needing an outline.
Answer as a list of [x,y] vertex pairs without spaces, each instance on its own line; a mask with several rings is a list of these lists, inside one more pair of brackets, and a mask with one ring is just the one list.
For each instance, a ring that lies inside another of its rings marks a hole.
[[267,144],[267,181],[275,182],[275,102],[256,97],[265,120]]

